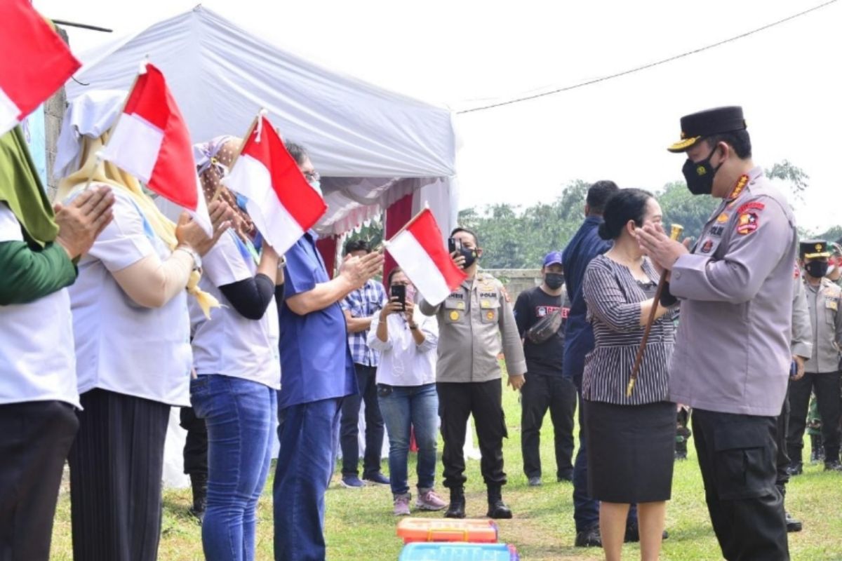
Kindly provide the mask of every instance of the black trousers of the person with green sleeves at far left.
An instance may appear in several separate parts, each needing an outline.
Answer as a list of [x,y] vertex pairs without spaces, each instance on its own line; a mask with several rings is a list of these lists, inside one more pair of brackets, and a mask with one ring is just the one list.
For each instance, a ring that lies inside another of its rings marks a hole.
[[47,561],[61,472],[79,421],[72,405],[0,405],[0,560]]

